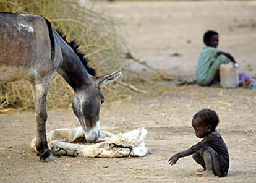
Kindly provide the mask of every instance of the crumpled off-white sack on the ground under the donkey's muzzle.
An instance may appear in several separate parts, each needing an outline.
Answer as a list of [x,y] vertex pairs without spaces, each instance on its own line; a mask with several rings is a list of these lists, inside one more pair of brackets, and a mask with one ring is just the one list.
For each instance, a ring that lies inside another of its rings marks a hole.
[[[145,156],[148,148],[144,139],[147,129],[138,128],[124,134],[114,135],[101,131],[96,143],[72,143],[84,137],[82,127],[75,129],[56,129],[47,134],[48,146],[54,155],[82,156],[84,158],[118,158],[126,156]],[[36,138],[31,147],[36,151]]]

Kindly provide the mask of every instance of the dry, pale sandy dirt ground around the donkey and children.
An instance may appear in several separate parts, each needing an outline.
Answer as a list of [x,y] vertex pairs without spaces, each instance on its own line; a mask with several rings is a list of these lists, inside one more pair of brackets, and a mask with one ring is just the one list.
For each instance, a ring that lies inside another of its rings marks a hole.
[[[165,74],[194,79],[202,34],[214,29],[220,32],[220,49],[233,54],[240,71],[255,76],[255,1],[117,1],[95,4],[95,9],[124,20],[130,51]],[[145,72],[141,66],[130,66]],[[256,90],[174,87],[174,82],[162,81],[137,87],[148,94],[134,93],[114,102],[106,98],[101,129],[116,133],[145,127],[149,155],[61,156],[57,158],[60,163],[41,163],[30,149],[35,137],[34,113],[0,114],[0,182],[256,182]],[[168,164],[171,155],[198,142],[190,121],[202,108],[214,109],[220,116],[218,130],[231,159],[227,177],[195,176],[200,167],[191,156],[175,166]],[[48,131],[78,126],[72,111],[49,111]]]

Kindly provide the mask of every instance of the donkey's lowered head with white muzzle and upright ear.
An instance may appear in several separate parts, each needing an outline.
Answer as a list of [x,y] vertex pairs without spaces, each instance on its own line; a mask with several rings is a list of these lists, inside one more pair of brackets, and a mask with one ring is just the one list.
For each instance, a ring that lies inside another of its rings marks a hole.
[[121,71],[117,71],[101,77],[92,77],[92,84],[83,87],[82,90],[75,91],[72,102],[73,110],[79,118],[83,130],[85,130],[87,142],[96,142],[100,136],[100,108],[104,102],[100,85],[107,85],[121,75]]

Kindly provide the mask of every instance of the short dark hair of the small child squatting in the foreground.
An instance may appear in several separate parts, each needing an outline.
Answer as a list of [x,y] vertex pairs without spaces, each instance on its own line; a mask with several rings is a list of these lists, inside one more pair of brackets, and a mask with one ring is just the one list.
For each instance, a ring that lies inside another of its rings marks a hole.
[[218,114],[211,109],[202,109],[193,116],[193,119],[197,117],[202,119],[202,121],[204,121],[205,124],[211,125],[213,127],[213,130],[215,130],[216,126],[219,123]]

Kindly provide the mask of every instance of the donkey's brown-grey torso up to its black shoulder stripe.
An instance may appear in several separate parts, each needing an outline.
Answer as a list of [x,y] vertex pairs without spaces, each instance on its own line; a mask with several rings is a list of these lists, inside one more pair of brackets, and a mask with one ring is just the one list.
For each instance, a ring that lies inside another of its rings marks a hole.
[[39,15],[0,12],[0,82],[49,74],[54,52],[51,30]]

